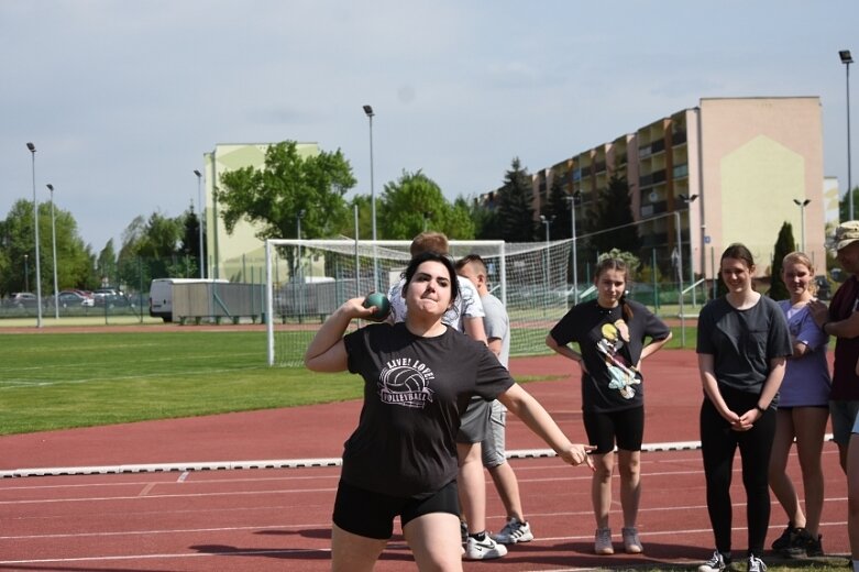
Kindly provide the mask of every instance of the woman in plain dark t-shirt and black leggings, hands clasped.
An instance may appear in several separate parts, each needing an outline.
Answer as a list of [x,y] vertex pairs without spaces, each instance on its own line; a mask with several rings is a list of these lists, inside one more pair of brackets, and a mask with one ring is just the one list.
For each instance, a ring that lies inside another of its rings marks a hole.
[[730,481],[737,448],[742,458],[748,519],[748,571],[761,560],[770,522],[768,466],[775,436],[775,406],[786,356],[793,353],[779,305],[755,292],[755,260],[742,244],[722,254],[725,296],[698,316],[697,354],[704,402],[701,452],[716,550],[698,572],[722,572],[731,560]]

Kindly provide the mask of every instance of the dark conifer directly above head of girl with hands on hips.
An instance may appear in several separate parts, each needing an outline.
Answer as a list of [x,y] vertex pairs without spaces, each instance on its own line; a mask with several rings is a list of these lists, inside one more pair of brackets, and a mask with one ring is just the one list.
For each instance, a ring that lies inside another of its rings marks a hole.
[[595,209],[590,212],[595,228],[610,232],[599,232],[591,238],[598,252],[612,249],[638,252],[640,240],[634,224],[629,184],[624,176],[614,174],[608,186],[599,191]]

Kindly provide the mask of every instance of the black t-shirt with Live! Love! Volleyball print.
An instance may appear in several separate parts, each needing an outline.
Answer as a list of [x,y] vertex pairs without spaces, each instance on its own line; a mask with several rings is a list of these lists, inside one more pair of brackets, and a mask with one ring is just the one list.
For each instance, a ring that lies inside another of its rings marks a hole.
[[359,426],[342,479],[392,496],[438,491],[456,477],[456,432],[472,395],[495,399],[515,382],[483,343],[448,328],[436,338],[400,322],[344,339],[349,371],[364,378]]

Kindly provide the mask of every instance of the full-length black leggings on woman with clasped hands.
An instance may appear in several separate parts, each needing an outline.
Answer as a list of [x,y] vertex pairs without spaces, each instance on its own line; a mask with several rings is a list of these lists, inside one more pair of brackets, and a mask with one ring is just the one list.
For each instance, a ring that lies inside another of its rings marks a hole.
[[[736,414],[753,409],[759,396],[731,391],[719,385],[722,397]],[[767,472],[775,436],[775,410],[768,409],[748,431],[734,431],[708,398],[701,406],[701,453],[707,480],[707,512],[716,538],[716,550],[730,552],[730,479],[737,447],[742,460],[742,485],[746,487],[749,553],[763,554],[767,528],[770,526],[770,490]]]

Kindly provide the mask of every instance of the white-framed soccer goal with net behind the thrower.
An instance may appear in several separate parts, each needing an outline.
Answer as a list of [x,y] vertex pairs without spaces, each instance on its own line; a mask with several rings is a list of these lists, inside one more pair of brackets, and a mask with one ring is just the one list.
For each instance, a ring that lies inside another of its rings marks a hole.
[[[279,240],[265,243],[268,364],[300,366],[328,316],[349,298],[387,294],[411,241]],[[489,289],[510,316],[510,354],[544,353],[549,329],[568,310],[571,241],[513,244],[450,241],[454,258],[478,254]],[[356,327],[353,324],[352,327]]]

